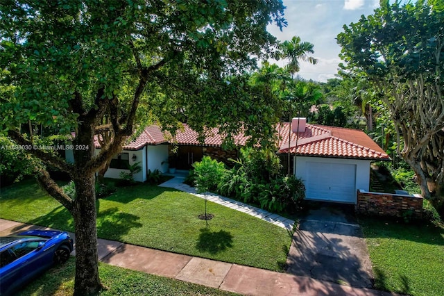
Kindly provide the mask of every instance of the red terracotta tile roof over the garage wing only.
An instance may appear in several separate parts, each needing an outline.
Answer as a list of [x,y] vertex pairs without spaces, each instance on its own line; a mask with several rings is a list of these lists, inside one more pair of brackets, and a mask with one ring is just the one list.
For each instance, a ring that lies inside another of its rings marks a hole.
[[[279,153],[287,153],[289,147],[289,126],[283,124]],[[307,124],[304,133],[291,135],[290,153],[300,156],[325,156],[337,158],[364,158],[388,160],[389,156],[364,131],[334,126]]]

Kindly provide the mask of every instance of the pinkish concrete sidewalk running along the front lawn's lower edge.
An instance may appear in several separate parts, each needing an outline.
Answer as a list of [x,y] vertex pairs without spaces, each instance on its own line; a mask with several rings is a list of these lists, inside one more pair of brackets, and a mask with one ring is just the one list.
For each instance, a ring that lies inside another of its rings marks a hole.
[[[27,229],[48,228],[0,219],[0,236]],[[74,233],[69,234],[75,241]],[[164,252],[101,238],[97,249],[99,261],[103,263],[244,295],[391,295],[378,290],[341,286],[309,277]]]

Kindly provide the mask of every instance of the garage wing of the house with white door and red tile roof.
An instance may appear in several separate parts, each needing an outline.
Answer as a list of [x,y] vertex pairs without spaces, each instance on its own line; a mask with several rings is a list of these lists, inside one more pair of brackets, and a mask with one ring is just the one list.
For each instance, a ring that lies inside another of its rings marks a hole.
[[[282,140],[278,153],[290,150],[306,199],[357,204],[357,190],[370,186],[370,162],[390,160],[363,131],[307,124],[305,118],[293,118],[291,126],[291,140]],[[288,139],[290,124],[282,130]]]

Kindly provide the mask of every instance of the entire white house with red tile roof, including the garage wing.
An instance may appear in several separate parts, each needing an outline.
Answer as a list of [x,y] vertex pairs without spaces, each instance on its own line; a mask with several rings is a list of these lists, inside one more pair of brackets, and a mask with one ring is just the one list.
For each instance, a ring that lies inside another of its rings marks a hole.
[[[188,170],[204,155],[225,163],[228,158],[237,158],[237,150],[222,148],[223,138],[218,129],[210,129],[200,143],[196,131],[187,124],[183,127],[174,140],[167,140],[158,126],[146,127],[123,146],[121,154],[114,156],[105,176],[119,178],[125,167],[137,162],[142,172],[135,175],[136,181],[145,181],[148,170],[167,172],[174,146],[179,170]],[[278,124],[276,132],[280,135],[278,154],[285,157],[290,151],[293,174],[304,181],[307,199],[356,204],[357,190],[369,189],[370,162],[390,159],[366,133],[355,129],[307,124],[305,118],[294,118],[291,124]],[[234,141],[241,147],[247,138],[236,135]],[[95,145],[98,154],[99,142]]]

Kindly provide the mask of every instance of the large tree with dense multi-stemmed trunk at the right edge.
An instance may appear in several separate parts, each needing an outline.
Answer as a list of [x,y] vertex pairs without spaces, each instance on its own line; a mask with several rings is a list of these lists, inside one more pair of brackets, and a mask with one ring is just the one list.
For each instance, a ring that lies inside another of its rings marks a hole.
[[364,75],[391,115],[398,152],[444,214],[444,10],[439,1],[381,1],[338,35],[345,70]]

